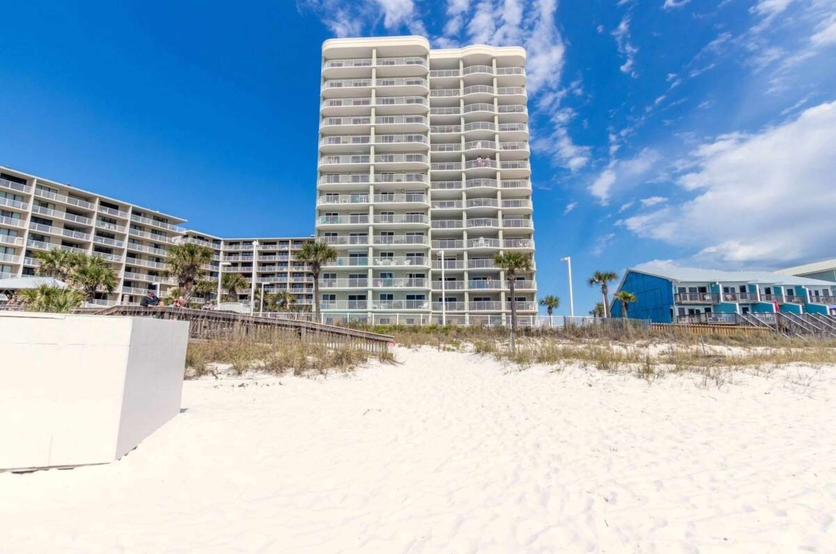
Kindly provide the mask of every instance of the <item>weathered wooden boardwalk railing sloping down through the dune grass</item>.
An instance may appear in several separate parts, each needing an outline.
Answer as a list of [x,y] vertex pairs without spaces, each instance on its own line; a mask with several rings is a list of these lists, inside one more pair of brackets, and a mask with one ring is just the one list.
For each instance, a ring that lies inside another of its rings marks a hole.
[[389,343],[395,341],[393,336],[360,329],[323,325],[313,321],[237,314],[232,311],[191,310],[171,306],[143,308],[135,305],[115,305],[104,310],[84,308],[74,311],[96,315],[126,315],[188,321],[189,336],[193,339],[247,338],[253,341],[268,341],[277,332],[284,332],[294,333],[302,341],[319,342],[328,346],[349,346],[372,353],[387,351]]

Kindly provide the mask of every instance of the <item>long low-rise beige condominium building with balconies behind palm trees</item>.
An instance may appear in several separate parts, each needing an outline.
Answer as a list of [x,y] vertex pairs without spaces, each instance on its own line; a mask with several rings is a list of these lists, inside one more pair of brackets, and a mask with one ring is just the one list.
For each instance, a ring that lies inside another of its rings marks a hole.
[[296,305],[313,305],[313,277],[308,267],[293,260],[309,237],[221,239],[186,230],[181,226],[185,221],[0,167],[0,279],[34,274],[38,267],[34,252],[64,249],[99,256],[117,270],[117,288],[100,293],[94,303],[137,303],[149,288],[165,295],[176,286],[175,280],[161,276],[168,246],[188,241],[215,250],[212,264],[204,268],[206,280],[217,283],[222,262],[224,273],[244,275],[246,284],[237,290],[238,300],[249,299],[255,264],[258,289],[289,290]]

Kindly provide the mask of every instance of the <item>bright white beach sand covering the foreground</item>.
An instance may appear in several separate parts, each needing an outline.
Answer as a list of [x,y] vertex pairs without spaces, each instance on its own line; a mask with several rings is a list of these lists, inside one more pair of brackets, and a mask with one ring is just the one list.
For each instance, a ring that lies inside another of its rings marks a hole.
[[0,474],[0,552],[834,551],[836,368],[718,390],[396,354],[186,382],[114,464]]

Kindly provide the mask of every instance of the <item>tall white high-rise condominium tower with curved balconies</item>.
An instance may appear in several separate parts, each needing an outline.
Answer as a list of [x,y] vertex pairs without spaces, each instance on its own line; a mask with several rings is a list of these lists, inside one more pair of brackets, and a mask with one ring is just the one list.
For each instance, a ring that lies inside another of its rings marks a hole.
[[[533,254],[525,50],[425,38],[323,44],[316,236],[329,312],[491,321],[510,313],[494,254]],[[517,309],[537,311],[534,274]]]

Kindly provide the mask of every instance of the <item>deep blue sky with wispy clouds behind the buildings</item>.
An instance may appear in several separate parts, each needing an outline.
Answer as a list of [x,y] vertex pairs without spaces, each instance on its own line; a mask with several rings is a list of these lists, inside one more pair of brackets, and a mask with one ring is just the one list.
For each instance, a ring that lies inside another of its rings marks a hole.
[[[0,165],[223,236],[313,232],[319,49],[528,49],[541,295],[636,264],[832,258],[833,0],[10,3]],[[11,33],[10,30],[17,29]]]

